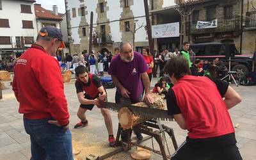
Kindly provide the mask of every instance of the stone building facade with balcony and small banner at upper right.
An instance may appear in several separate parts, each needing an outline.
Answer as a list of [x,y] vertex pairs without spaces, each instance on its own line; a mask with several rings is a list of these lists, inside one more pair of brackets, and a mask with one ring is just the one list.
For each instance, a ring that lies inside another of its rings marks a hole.
[[[242,54],[256,50],[256,13],[248,0],[178,0],[181,15],[181,41],[235,44]],[[216,23],[198,26],[198,21]]]

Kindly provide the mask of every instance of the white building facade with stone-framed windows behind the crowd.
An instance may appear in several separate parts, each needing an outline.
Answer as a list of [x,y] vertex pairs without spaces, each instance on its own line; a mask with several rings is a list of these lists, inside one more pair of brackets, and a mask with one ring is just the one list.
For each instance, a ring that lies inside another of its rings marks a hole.
[[[113,52],[113,49],[124,40],[134,42],[136,51],[148,46],[143,0],[66,0],[65,2],[72,54],[88,52],[91,12],[93,12],[92,50],[94,52]],[[162,9],[174,4],[172,0],[149,2],[149,9],[154,10],[156,15]],[[153,25],[157,24],[157,19],[153,20],[151,16],[151,20]],[[154,44],[157,47],[157,40]]]

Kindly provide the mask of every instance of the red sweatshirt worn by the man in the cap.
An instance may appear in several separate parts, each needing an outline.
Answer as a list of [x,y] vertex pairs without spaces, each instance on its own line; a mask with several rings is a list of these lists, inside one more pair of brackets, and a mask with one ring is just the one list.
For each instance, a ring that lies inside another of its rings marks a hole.
[[13,91],[20,103],[19,113],[28,119],[54,118],[68,124],[60,65],[43,47],[33,44],[14,67]]

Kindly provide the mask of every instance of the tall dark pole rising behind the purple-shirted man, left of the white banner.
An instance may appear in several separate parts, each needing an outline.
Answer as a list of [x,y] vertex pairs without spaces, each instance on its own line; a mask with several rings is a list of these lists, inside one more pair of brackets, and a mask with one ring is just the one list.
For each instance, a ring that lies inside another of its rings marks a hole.
[[[150,18],[149,18],[148,0],[144,0],[144,8],[145,8],[145,15],[146,15],[146,22],[147,22],[149,52],[153,54],[154,46],[153,46],[152,31],[151,31],[151,24],[150,24]],[[154,55],[153,55],[153,58],[154,58]],[[156,77],[155,65],[153,68],[153,77]]]

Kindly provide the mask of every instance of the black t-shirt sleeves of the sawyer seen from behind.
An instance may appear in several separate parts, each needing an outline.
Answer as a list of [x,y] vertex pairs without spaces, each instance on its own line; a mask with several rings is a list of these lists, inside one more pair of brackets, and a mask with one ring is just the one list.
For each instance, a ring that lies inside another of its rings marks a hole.
[[[228,83],[225,81],[221,81],[220,79],[216,79],[216,78],[212,78],[211,80],[216,84],[221,97],[224,97],[224,95],[228,89]],[[202,96],[204,96],[204,95],[202,95]],[[168,109],[168,115],[177,115],[177,114],[181,113],[179,107],[177,106],[176,96],[175,96],[175,93],[173,92],[172,88],[170,88],[170,90],[168,91],[168,93],[166,95],[166,104],[167,104],[167,109]]]

